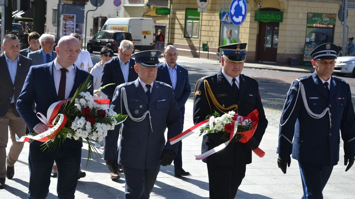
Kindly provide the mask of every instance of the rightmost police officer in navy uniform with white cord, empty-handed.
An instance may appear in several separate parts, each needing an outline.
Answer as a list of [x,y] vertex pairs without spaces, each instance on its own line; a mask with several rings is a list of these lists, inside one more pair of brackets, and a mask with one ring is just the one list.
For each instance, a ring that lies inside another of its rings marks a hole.
[[350,86],[332,76],[338,53],[338,47],[331,43],[311,52],[315,72],[293,81],[280,119],[278,166],[286,174],[290,154],[298,160],[302,199],[323,199],[322,191],[339,161],[339,130],[344,141],[344,165],[348,165],[345,171],[355,160],[355,114]]

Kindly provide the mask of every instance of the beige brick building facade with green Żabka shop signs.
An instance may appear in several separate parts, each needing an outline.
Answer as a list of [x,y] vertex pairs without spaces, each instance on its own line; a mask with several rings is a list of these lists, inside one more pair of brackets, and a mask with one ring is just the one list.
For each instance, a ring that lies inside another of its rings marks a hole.
[[[222,0],[210,0],[204,13],[198,12],[196,0],[170,1],[170,43],[180,55],[218,59],[219,45],[246,42],[247,62],[287,64],[289,58],[296,58],[301,64],[309,63],[309,52],[320,44],[342,46],[340,0],[249,0],[239,27],[220,23],[225,17],[221,16]],[[231,0],[225,0],[226,12],[230,4]],[[354,22],[355,1],[348,0],[348,38],[354,37]],[[203,51],[203,43],[209,46],[208,52]]]

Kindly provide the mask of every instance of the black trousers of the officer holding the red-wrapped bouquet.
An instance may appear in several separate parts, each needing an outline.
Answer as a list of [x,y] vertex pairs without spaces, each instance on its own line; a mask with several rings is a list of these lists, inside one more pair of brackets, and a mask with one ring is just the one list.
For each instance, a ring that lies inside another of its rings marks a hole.
[[209,198],[234,199],[245,177],[245,170],[245,164],[229,167],[207,163]]

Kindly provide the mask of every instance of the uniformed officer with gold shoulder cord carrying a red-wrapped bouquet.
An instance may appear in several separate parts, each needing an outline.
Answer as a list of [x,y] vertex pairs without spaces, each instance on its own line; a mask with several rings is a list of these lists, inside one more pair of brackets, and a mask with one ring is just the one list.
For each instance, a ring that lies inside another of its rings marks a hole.
[[[193,123],[217,111],[220,115],[234,111],[246,116],[259,111],[259,122],[253,138],[245,144],[231,142],[224,149],[203,159],[207,163],[210,199],[234,198],[245,177],[246,164],[251,163],[251,150],[256,149],[265,133],[268,121],[261,103],[259,86],[255,79],[241,74],[246,56],[246,43],[220,46],[222,69],[217,74],[197,81]],[[203,136],[202,153],[229,140],[229,135],[209,133]]]

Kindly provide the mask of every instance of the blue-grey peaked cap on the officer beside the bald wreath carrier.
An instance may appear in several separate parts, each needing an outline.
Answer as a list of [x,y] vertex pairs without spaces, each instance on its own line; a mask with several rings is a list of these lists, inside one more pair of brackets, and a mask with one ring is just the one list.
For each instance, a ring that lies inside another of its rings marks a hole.
[[135,58],[136,63],[140,63],[145,67],[158,67],[161,54],[162,51],[159,50],[145,50],[132,54],[132,57]]

